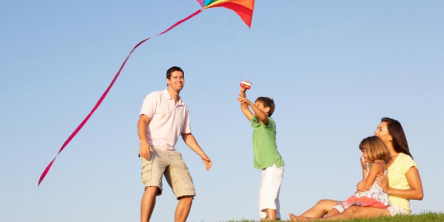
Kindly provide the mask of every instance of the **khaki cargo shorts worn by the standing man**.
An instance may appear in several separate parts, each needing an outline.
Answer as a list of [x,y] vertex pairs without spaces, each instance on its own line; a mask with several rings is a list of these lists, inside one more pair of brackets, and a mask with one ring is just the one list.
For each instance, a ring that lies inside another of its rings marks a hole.
[[162,176],[165,175],[176,198],[195,196],[193,180],[182,160],[182,154],[161,151],[155,147],[153,150],[149,159],[140,158],[142,161],[142,183],[145,187],[159,187],[157,195],[162,194]]

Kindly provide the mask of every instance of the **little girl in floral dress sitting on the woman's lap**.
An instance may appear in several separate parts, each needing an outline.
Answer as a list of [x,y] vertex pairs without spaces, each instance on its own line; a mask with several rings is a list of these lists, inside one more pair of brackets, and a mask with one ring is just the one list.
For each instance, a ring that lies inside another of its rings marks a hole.
[[388,194],[375,183],[376,177],[379,174],[387,174],[385,162],[390,156],[390,152],[384,142],[376,136],[363,139],[359,144],[359,150],[361,150],[362,157],[364,158],[363,160],[361,159],[364,181],[366,181],[371,188],[368,191],[357,191],[346,201],[337,203],[334,209],[329,211],[327,216],[342,213],[350,206],[387,208],[390,205]]

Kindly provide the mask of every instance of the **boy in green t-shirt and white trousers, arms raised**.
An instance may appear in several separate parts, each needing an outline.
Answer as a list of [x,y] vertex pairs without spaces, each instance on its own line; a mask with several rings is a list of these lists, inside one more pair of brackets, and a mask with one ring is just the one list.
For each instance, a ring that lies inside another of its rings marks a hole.
[[[284,176],[284,160],[276,145],[276,125],[272,119],[275,103],[271,98],[258,97],[255,103],[245,96],[246,89],[240,89],[240,109],[253,127],[254,168],[262,170],[259,190],[259,214],[261,220],[280,219],[279,189]],[[250,106],[253,113],[250,111]]]

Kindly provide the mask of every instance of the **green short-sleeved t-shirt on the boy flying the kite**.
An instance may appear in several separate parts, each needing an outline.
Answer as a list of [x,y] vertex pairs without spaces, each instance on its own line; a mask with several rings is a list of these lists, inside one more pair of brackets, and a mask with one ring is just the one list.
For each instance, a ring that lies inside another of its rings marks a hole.
[[276,125],[272,117],[268,117],[268,126],[259,122],[257,117],[251,119],[253,129],[254,168],[263,169],[276,164],[283,166],[284,160],[276,145]]

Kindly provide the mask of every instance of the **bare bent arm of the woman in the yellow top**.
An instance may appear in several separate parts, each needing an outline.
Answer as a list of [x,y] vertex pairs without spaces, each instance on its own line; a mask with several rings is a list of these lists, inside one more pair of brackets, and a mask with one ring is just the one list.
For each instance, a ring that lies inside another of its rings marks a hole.
[[407,182],[410,186],[410,189],[408,190],[390,188],[388,186],[388,179],[384,175],[378,175],[376,181],[378,185],[382,187],[384,192],[388,193],[388,195],[398,196],[399,198],[409,200],[423,200],[423,184],[421,182],[420,172],[418,169],[414,166],[410,167],[405,176],[407,177]]

